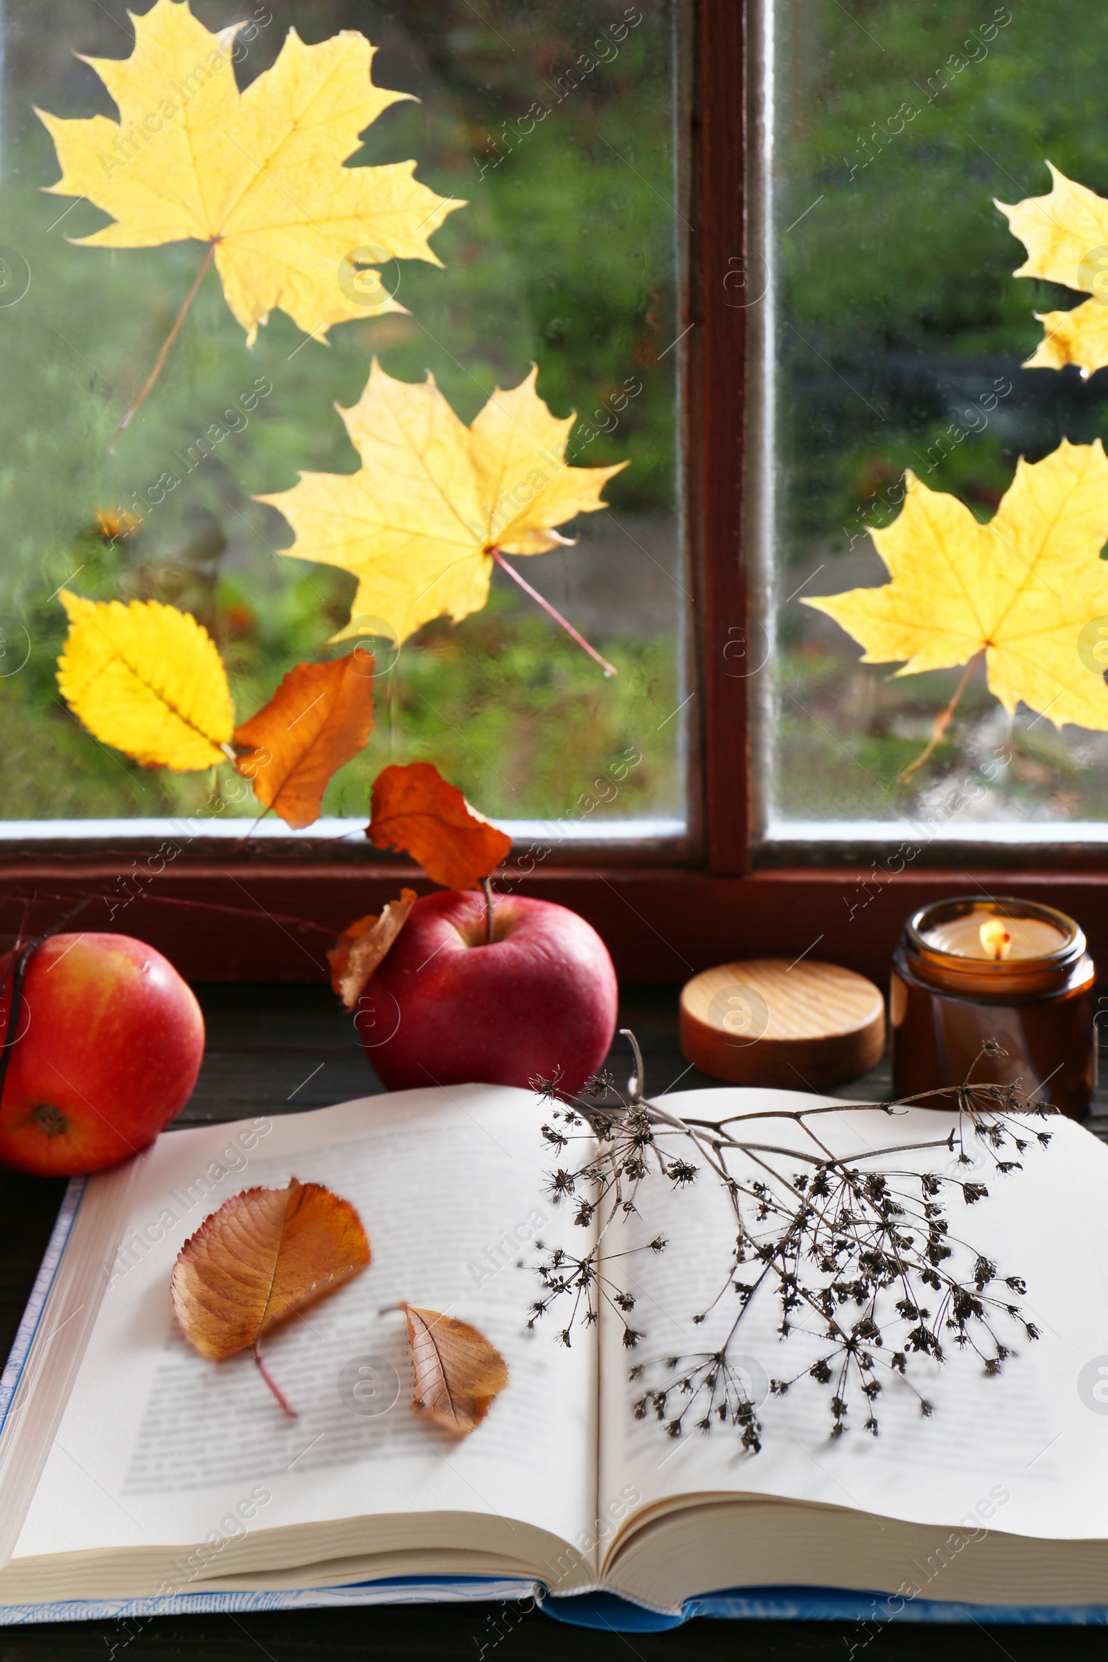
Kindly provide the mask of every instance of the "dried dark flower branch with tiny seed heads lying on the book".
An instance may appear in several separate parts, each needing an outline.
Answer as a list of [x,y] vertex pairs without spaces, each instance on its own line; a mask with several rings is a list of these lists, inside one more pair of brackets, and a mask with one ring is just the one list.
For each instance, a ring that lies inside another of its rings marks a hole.
[[[930,1414],[932,1404],[909,1374],[915,1358],[942,1363],[954,1343],[973,1351],[985,1373],[995,1374],[1013,1355],[1002,1331],[1010,1338],[1017,1328],[1027,1340],[1038,1338],[1015,1301],[1027,1291],[1025,1283],[1017,1275],[1002,1276],[988,1256],[952,1228],[945,1202],[958,1197],[972,1207],[988,1195],[987,1185],[970,1177],[975,1160],[967,1143],[983,1150],[995,1173],[1020,1170],[1018,1157],[1032,1142],[1042,1147],[1050,1142],[1050,1133],[1028,1128],[1027,1119],[1047,1119],[1053,1109],[1030,1102],[1015,1085],[975,1082],[975,1062],[963,1085],[900,1102],[681,1119],[643,1097],[641,1054],[633,1035],[626,1037],[636,1059],[626,1095],[615,1089],[610,1074],[596,1075],[573,1099],[561,1094],[556,1079],[532,1082],[552,1104],[542,1133],[558,1155],[575,1142],[588,1142],[588,1157],[580,1165],[558,1165],[550,1175],[550,1195],[555,1203],[573,1207],[575,1225],[596,1225],[596,1233],[580,1256],[537,1242],[542,1293],[530,1308],[528,1328],[556,1308],[565,1313],[561,1343],[570,1345],[575,1328],[595,1325],[601,1305],[608,1305],[623,1325],[625,1346],[636,1348],[645,1333],[628,1320],[635,1295],[620,1283],[615,1268],[628,1253],[606,1246],[610,1232],[638,1213],[648,1178],[686,1188],[701,1168],[723,1185],[736,1228],[719,1290],[693,1321],[703,1323],[729,1291],[739,1300],[738,1315],[716,1348],[631,1368],[631,1379],[643,1381],[636,1418],[656,1418],[673,1438],[689,1426],[709,1431],[714,1423],[731,1424],[743,1448],[757,1453],[762,1438],[757,1404],[734,1361],[748,1311],[767,1296],[777,1300],[782,1340],[804,1331],[821,1341],[814,1361],[792,1378],[771,1379],[769,1388],[784,1396],[802,1378],[829,1386],[832,1438],[846,1431],[847,1411],[859,1394],[862,1429],[877,1436],[882,1378],[892,1374],[915,1393],[920,1413]],[[987,1054],[1003,1052],[987,1040],[980,1055]],[[935,1138],[841,1155],[819,1135],[821,1117],[827,1114],[892,1117],[917,1104],[945,1102],[957,1109],[957,1125]],[[774,1120],[802,1133],[799,1147],[767,1140]],[[927,1148],[955,1155],[955,1165],[967,1167],[965,1175],[897,1163],[899,1155]],[[656,1235],[631,1253],[659,1253],[666,1245]]]

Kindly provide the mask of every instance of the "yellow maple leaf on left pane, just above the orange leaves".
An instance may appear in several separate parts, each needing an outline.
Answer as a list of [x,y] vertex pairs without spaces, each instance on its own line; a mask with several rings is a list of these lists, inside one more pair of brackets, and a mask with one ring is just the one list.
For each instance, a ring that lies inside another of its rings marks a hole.
[[352,618],[336,640],[357,635],[359,617],[384,620],[397,642],[430,618],[458,623],[485,605],[498,563],[615,673],[502,558],[565,545],[555,527],[605,507],[600,492],[626,467],[570,467],[565,445],[576,417],[550,414],[537,374],[510,392],[497,387],[467,427],[434,376],[394,381],[374,359],[359,402],[339,411],[360,469],[301,474],[291,490],[257,497],[296,532],[282,553],[357,577]]

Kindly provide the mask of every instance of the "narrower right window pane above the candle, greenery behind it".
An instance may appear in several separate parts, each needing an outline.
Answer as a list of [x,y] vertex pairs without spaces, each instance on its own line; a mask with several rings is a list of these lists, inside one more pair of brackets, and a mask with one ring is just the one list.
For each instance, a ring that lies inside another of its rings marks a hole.
[[1025,705],[1010,720],[978,666],[900,783],[962,670],[860,663],[802,600],[887,580],[869,527],[900,512],[905,469],[988,520],[1020,455],[1105,434],[1105,376],[1020,367],[1043,336],[1033,314],[1085,296],[1013,279],[1025,254],[993,198],[1047,194],[1047,156],[1108,193],[1088,118],[1108,17],[1075,0],[777,0],[774,15],[771,833],[1103,838],[1108,733]]

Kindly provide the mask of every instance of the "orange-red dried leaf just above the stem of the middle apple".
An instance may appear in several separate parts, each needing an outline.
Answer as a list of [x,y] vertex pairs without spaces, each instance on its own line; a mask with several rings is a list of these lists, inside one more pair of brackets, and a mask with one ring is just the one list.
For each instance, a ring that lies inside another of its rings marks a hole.
[[444,889],[472,889],[512,849],[512,838],[470,808],[429,761],[380,770],[365,836],[374,848],[402,848]]

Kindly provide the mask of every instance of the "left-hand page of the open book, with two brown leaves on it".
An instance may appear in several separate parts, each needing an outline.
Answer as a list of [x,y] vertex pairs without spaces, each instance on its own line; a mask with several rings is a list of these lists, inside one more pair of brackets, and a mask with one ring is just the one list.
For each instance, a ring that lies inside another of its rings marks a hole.
[[[161,1137],[131,1185],[13,1569],[392,1512],[490,1514],[573,1539],[593,1516],[596,1348],[555,1351],[525,1331],[533,1290],[517,1261],[550,1217],[535,1115],[528,1092],[465,1085]],[[249,1353],[206,1361],[169,1306],[203,1218],[292,1175],[351,1200],[372,1248],[365,1271],[262,1341],[296,1419]],[[508,1363],[465,1439],[412,1413],[405,1320],[380,1313],[402,1298],[480,1328]]]

